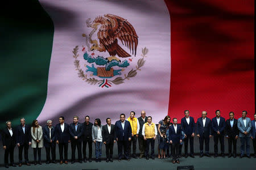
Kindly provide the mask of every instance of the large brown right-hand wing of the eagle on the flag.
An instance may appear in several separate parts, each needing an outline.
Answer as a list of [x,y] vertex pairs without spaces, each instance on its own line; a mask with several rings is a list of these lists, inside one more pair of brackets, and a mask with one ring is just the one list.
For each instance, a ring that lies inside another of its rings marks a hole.
[[[114,36],[114,39],[121,40],[122,44],[123,42],[125,42],[125,46],[129,48],[130,51],[132,50],[134,56],[136,56],[137,46],[138,46],[138,36],[137,36],[137,33],[135,32],[133,25],[127,22],[126,19],[123,19],[117,15],[105,14],[104,16],[110,20],[110,23],[112,26],[111,33],[113,33],[112,36]],[[121,50],[123,49],[121,48]]]

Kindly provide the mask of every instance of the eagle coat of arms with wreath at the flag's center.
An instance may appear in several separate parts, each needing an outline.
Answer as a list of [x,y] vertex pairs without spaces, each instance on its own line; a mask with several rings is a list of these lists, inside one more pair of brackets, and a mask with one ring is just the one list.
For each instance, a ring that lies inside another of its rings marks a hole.
[[[98,16],[93,22],[88,19],[86,25],[93,30],[89,35],[83,33],[85,44],[80,48],[77,45],[73,49],[78,76],[85,82],[98,84],[102,88],[122,84],[126,79],[129,80],[136,76],[137,71],[141,70],[145,63],[144,57],[148,49],[143,48],[142,58],[138,59],[135,68],[128,69],[136,57],[138,46],[138,36],[133,25],[126,19],[112,14],[105,14],[104,17]],[[97,39],[93,39],[96,31]],[[84,69],[80,65],[80,53],[84,59],[82,62],[85,62]]]

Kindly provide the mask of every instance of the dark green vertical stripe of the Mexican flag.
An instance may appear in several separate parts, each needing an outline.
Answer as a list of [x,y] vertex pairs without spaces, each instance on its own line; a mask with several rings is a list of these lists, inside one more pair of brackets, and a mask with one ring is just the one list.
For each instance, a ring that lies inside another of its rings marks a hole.
[[38,1],[9,1],[0,16],[0,127],[31,124],[47,96],[53,22]]

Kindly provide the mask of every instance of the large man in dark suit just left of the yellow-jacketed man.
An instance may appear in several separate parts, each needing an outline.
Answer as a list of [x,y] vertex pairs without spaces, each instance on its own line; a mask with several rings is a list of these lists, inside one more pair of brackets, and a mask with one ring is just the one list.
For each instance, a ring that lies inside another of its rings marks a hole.
[[122,152],[125,158],[130,160],[128,154],[129,141],[131,141],[131,125],[125,120],[125,114],[120,114],[120,120],[115,122],[115,140],[118,146],[118,161],[122,159]]

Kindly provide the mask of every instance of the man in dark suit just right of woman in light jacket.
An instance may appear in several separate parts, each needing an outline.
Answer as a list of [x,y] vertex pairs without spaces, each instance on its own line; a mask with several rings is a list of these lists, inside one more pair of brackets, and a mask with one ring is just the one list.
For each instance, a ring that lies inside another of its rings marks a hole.
[[111,119],[106,118],[106,125],[102,127],[102,141],[106,146],[106,162],[113,162],[113,147],[115,143],[114,125],[111,124]]

